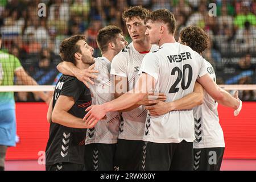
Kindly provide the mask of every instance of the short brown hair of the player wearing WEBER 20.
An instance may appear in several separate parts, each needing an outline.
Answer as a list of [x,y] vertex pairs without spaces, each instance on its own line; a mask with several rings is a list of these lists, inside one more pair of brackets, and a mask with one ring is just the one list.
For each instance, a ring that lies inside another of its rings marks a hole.
[[171,11],[167,9],[160,9],[152,11],[148,14],[146,18],[146,22],[151,20],[152,22],[155,21],[162,21],[167,24],[168,30],[171,34],[175,34],[176,31],[176,19],[174,17],[174,14],[171,13]]

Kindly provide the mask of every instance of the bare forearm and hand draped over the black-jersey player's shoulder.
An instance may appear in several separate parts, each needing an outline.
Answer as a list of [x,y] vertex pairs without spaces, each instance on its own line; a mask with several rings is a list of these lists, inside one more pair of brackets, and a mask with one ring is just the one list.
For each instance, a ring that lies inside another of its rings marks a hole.
[[87,69],[79,69],[73,63],[63,61],[57,65],[57,70],[64,75],[75,76],[79,81],[82,81],[87,88],[89,88],[90,86],[88,85],[88,82],[90,84],[94,84],[90,78],[97,78],[94,73],[98,73],[98,71],[95,70],[94,67],[95,64],[91,65]]

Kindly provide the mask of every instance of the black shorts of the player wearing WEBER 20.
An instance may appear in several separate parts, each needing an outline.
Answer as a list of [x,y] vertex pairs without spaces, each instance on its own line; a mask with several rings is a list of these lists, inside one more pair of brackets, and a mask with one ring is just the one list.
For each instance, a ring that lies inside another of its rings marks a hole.
[[144,142],[142,171],[192,171],[193,142]]

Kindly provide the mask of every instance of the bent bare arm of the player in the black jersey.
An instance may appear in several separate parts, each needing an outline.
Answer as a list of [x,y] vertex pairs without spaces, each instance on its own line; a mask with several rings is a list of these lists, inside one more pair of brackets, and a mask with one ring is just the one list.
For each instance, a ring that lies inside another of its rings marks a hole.
[[92,122],[88,125],[88,123],[82,121],[81,118],[77,118],[68,113],[74,104],[75,101],[73,97],[59,96],[52,111],[52,122],[77,129],[89,129],[94,127],[97,122]]

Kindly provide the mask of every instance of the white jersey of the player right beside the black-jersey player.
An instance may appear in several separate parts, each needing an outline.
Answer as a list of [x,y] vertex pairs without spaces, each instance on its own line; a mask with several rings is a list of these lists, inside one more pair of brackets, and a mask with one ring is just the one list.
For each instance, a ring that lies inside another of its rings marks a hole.
[[[105,57],[95,59],[95,69],[99,71],[97,78],[90,84],[92,104],[101,105],[114,100],[114,80],[110,75],[111,63]],[[85,144],[90,143],[117,143],[120,116],[117,111],[106,114],[106,119],[98,121],[95,127],[86,132]]]

